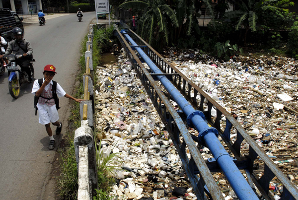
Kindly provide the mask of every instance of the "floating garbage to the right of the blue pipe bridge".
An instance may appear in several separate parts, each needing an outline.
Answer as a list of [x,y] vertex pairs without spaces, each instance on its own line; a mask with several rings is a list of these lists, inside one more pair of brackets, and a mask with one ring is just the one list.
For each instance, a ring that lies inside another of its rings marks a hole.
[[[228,62],[200,54],[198,49],[177,53],[165,52],[165,58],[184,75],[206,91],[255,139],[257,144],[298,186],[298,62],[284,57],[233,56]],[[212,110],[216,117],[216,110]],[[221,126],[225,127],[224,117]],[[236,132],[231,134],[234,142]],[[249,145],[242,143],[242,155]],[[261,160],[255,162],[259,177],[263,175]],[[276,177],[270,190],[279,199],[283,191]]]

